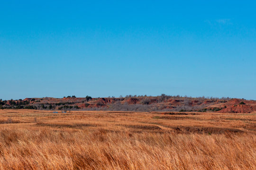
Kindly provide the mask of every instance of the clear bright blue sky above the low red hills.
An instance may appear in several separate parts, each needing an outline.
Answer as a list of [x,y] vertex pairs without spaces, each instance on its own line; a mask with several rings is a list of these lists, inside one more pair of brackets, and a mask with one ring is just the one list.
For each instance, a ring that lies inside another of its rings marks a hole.
[[256,99],[255,0],[0,1],[0,98]]

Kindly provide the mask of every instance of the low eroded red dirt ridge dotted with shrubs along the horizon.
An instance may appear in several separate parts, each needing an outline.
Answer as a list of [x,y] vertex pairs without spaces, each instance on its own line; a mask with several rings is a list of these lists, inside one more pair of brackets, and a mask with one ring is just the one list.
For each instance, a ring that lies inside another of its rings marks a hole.
[[[241,103],[244,102],[244,103]],[[2,102],[3,103],[3,102]],[[18,105],[19,103],[19,105]],[[157,108],[158,110],[171,111],[217,111],[227,113],[251,113],[256,111],[256,101],[244,99],[209,99],[176,96],[155,96],[155,97],[106,97],[92,98],[87,101],[84,97],[66,98],[26,98],[23,100],[25,105],[21,106],[22,101],[6,101],[1,107],[3,109],[22,109],[26,106],[34,106],[37,109],[86,109],[86,108],[110,108],[112,104],[137,105],[145,108]]]

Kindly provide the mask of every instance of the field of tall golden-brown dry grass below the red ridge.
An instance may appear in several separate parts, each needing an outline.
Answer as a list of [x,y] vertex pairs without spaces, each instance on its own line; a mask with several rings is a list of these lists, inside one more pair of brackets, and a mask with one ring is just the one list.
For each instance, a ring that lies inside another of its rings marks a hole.
[[0,110],[0,170],[256,170],[256,113]]

